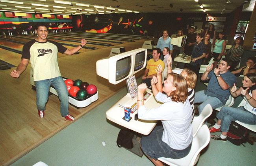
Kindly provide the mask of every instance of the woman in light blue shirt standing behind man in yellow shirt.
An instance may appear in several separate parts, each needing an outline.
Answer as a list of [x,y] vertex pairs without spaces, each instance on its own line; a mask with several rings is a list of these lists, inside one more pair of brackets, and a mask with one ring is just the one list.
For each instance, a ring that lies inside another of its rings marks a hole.
[[[171,38],[168,36],[167,30],[163,31],[163,36],[158,39],[156,47],[160,48],[161,51],[163,51],[164,47],[168,47],[170,49],[170,55],[172,56],[173,45],[171,44]],[[163,55],[161,55],[160,59],[163,60]]]

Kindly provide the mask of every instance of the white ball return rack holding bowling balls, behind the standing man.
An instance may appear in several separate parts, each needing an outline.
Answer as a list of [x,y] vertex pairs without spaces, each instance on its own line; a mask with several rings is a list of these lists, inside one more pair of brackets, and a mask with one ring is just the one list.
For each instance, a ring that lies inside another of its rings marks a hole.
[[[65,77],[62,77],[62,78],[63,78],[63,80],[68,79]],[[32,70],[30,71],[30,84],[32,85],[32,89],[35,90],[35,83],[33,81]],[[53,86],[50,87],[50,93],[58,96],[58,94]],[[49,93],[49,95],[51,95],[50,93]],[[69,103],[78,109],[89,106],[92,102],[95,102],[96,100],[98,100],[98,91],[93,95],[88,95],[88,97],[84,100],[80,100],[80,99],[77,99],[76,97],[72,97],[69,95]]]

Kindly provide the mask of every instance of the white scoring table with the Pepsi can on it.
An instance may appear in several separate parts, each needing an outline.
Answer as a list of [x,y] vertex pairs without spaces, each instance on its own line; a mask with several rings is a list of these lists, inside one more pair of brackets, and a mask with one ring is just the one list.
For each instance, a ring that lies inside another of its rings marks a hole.
[[[147,109],[160,106],[161,103],[158,103],[155,100],[154,95],[150,92],[149,89],[147,89],[147,92],[151,94],[144,101],[144,104],[147,107]],[[111,108],[108,109],[108,111],[106,112],[106,117],[112,122],[124,126],[125,128],[136,131],[137,133],[141,133],[143,135],[148,135],[156,126],[158,120],[135,120],[134,116],[135,114],[137,114],[137,110],[134,111],[134,113],[131,113],[130,117],[132,117],[132,119],[130,120],[130,122],[127,122],[126,120],[122,119],[124,117],[124,109],[119,107],[118,104],[121,104],[122,106],[128,105],[132,107],[132,105],[136,102],[137,97],[131,99],[130,93],[127,93],[122,99],[120,99],[117,103],[115,103]]]

